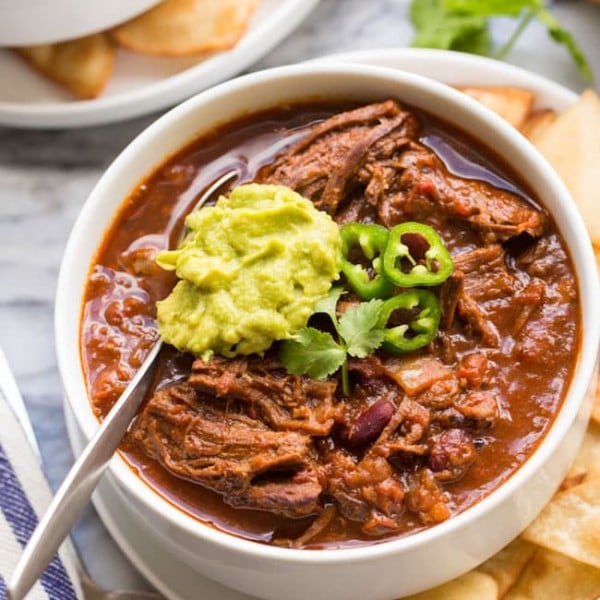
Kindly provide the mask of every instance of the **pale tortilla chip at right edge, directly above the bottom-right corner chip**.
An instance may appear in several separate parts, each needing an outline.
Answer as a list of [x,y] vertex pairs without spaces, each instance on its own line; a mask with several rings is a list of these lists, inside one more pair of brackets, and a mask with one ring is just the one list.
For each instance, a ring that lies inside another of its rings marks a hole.
[[600,568],[600,479],[558,492],[523,537]]

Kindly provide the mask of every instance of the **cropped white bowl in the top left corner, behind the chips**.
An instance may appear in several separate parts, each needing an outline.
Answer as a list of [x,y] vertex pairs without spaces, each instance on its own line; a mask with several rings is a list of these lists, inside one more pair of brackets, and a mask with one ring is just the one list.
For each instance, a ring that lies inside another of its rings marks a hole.
[[0,46],[48,44],[103,31],[160,0],[0,0]]

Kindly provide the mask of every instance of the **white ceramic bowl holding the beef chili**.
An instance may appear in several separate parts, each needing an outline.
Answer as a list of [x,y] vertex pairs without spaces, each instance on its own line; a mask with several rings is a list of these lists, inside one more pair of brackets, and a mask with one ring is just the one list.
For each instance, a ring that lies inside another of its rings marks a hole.
[[[123,459],[111,478],[149,535],[174,559],[246,593],[273,600],[391,599],[451,579],[514,538],[541,510],[572,461],[587,425],[600,339],[594,256],[584,224],[551,167],[499,117],[455,90],[380,67],[311,64],[248,75],[192,98],[151,125],[116,159],[83,207],[65,251],[56,298],[56,342],[66,403],[90,439],[98,423],[86,400],[79,319],[89,266],[116,209],[166,157],[215,124],[302,98],[372,101],[389,96],[441,116],[494,150],[544,199],[575,264],[582,302],[576,373],[550,431],[531,458],[480,503],[402,539],[340,550],[289,550],[205,526],[164,501]],[[76,317],[77,316],[77,317]]]

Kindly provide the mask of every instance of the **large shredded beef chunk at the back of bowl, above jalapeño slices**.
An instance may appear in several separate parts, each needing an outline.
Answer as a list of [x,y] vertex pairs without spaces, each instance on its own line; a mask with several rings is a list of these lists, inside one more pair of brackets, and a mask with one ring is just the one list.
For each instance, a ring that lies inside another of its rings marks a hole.
[[348,199],[366,201],[387,227],[441,210],[486,242],[543,233],[541,211],[485,181],[453,175],[419,135],[418,121],[396,101],[370,104],[313,126],[259,179],[292,187],[332,215]]

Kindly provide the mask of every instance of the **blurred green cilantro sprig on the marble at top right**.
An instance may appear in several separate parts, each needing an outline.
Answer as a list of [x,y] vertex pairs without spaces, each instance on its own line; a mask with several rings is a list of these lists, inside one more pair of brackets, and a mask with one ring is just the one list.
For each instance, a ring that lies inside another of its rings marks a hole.
[[527,25],[537,19],[552,39],[569,51],[583,77],[592,79],[581,48],[550,12],[545,0],[413,0],[410,18],[416,35],[412,45],[490,55],[489,19],[493,17],[518,19],[513,34],[494,54],[496,58],[504,58]]

